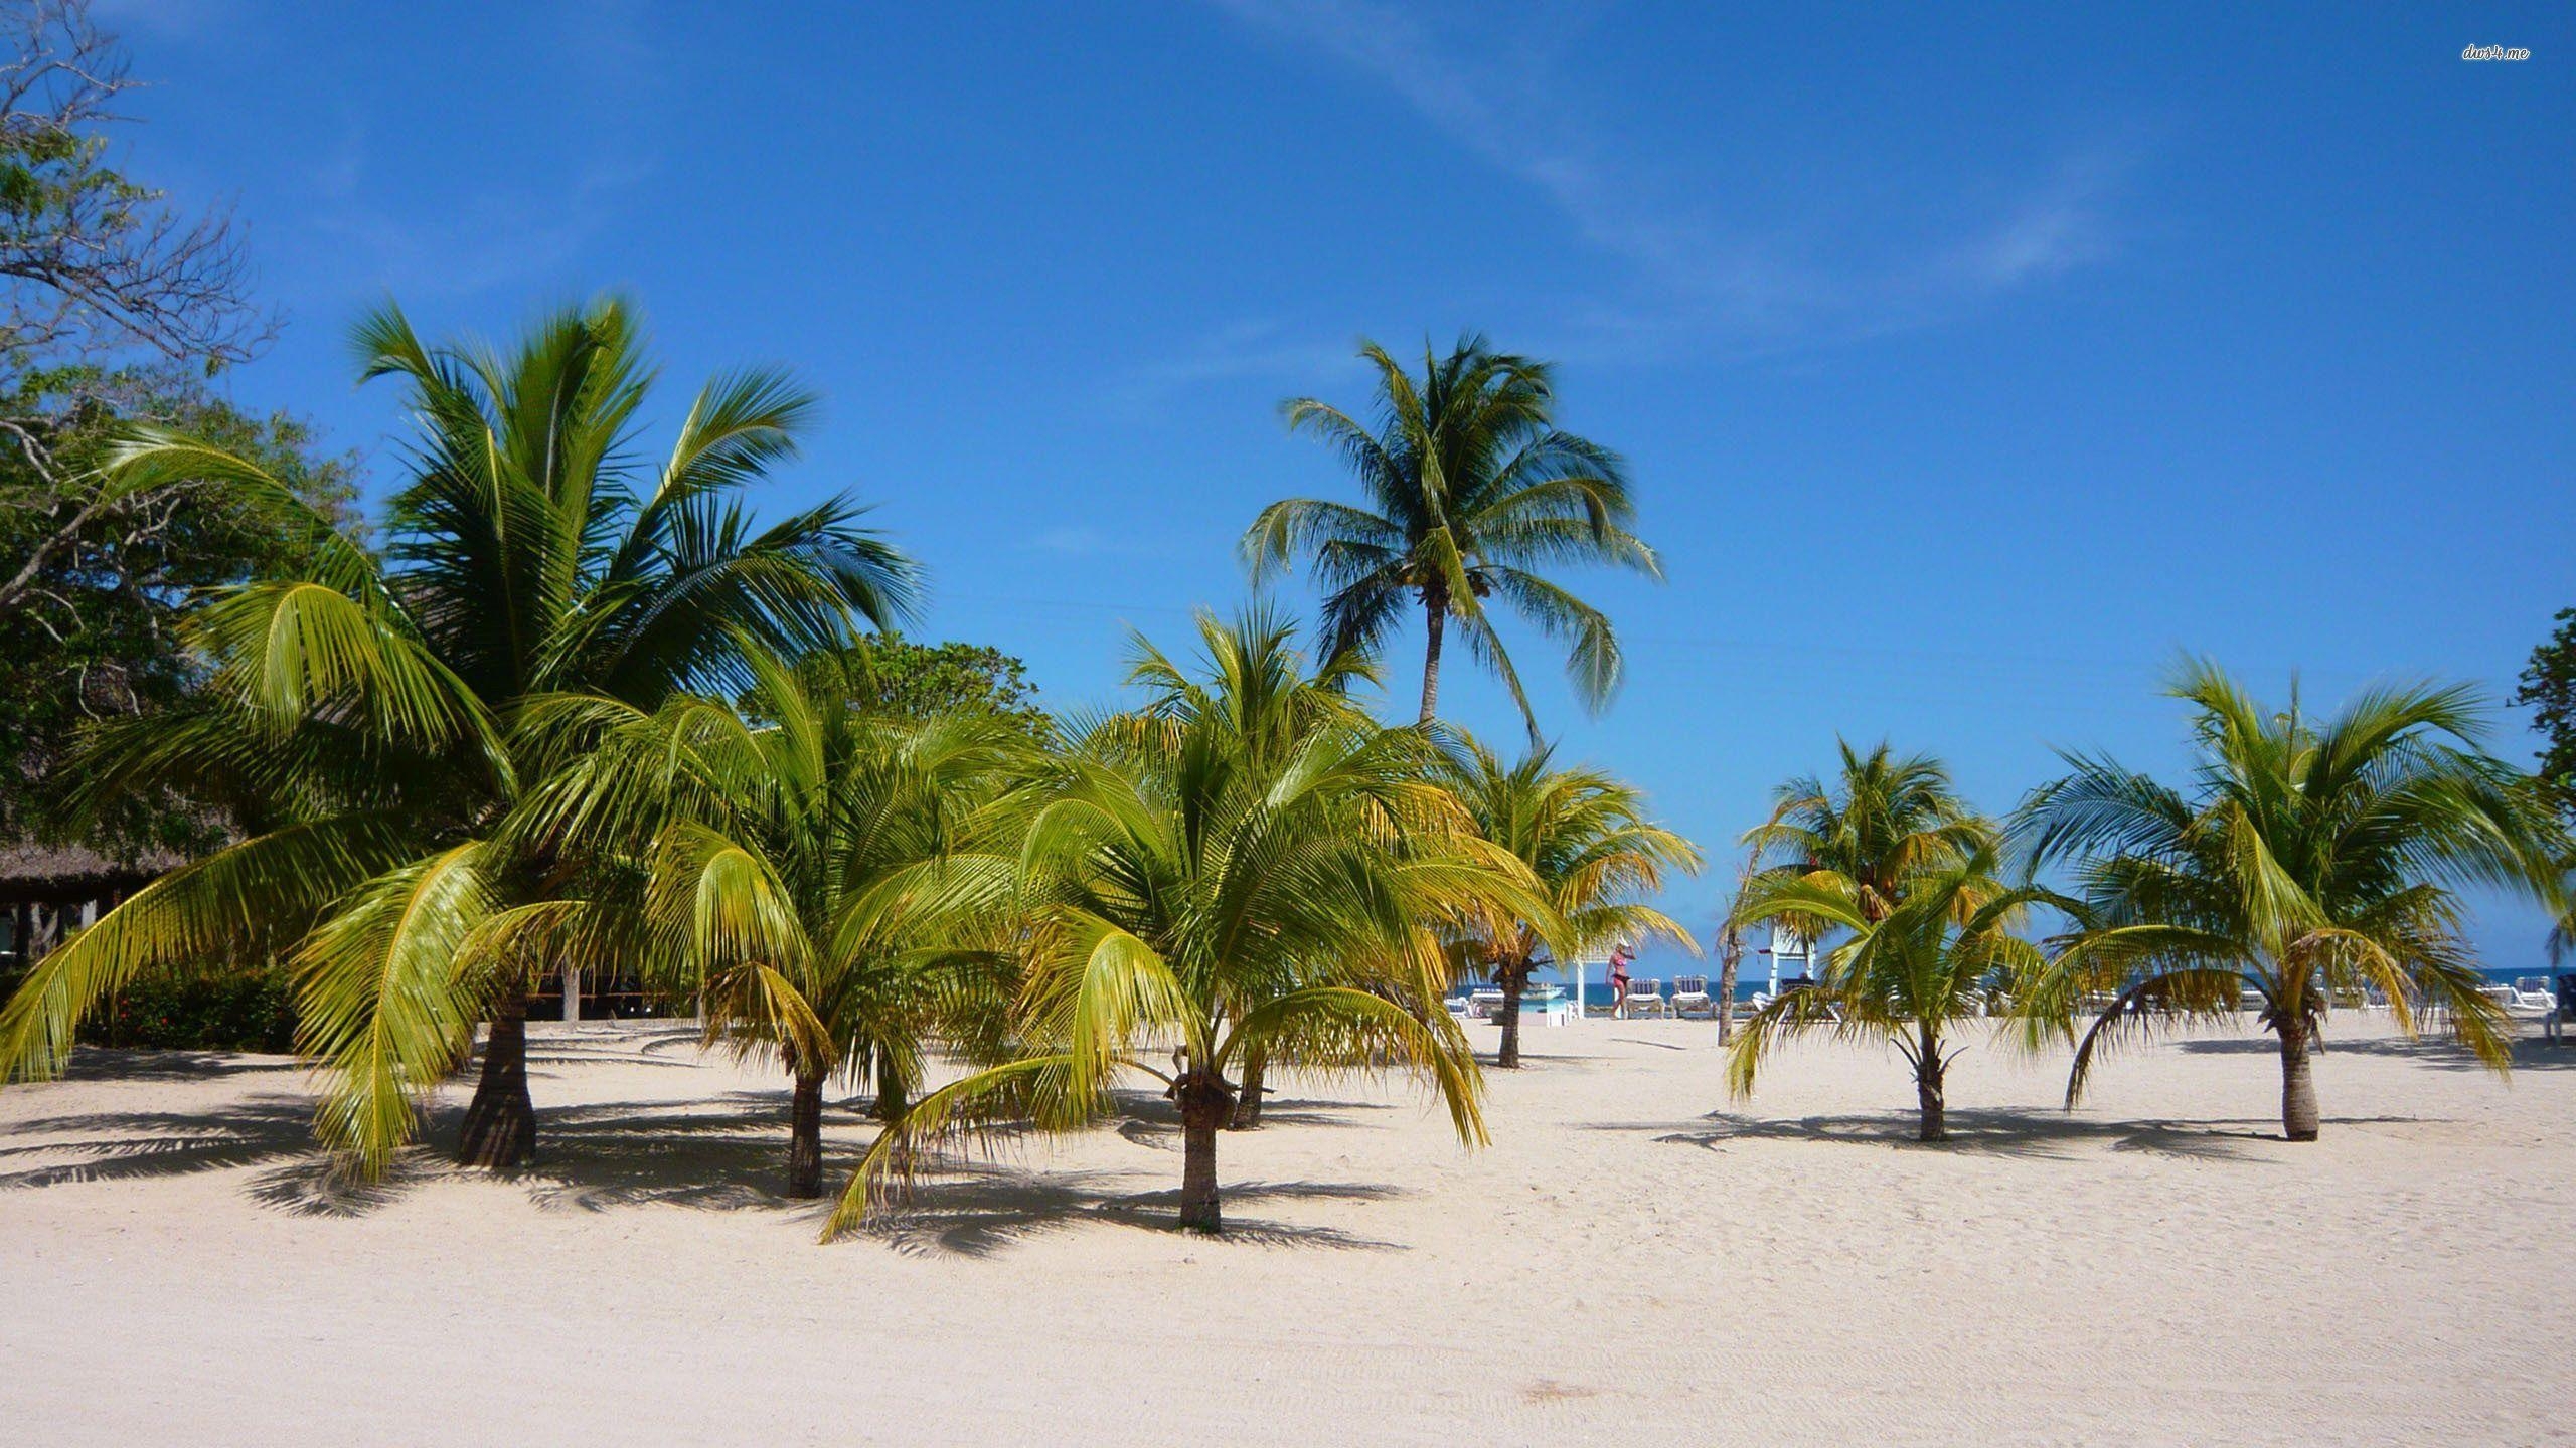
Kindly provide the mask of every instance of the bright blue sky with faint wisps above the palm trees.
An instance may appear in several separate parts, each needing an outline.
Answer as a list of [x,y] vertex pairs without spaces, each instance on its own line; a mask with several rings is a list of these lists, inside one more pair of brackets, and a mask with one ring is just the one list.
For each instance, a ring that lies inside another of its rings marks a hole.
[[[289,327],[227,386],[386,456],[343,332],[647,307],[683,405],[778,361],[927,634],[1115,691],[1345,492],[1278,402],[1360,335],[1558,361],[1669,582],[1546,724],[1726,850],[1837,732],[1991,809],[2172,770],[2177,649],[2267,696],[2504,696],[2576,603],[2576,13],[1139,0],[775,8],[126,0],[134,167],[229,198]],[[2527,46],[2468,64],[2468,44]],[[1303,605],[1303,593],[1291,598]],[[1391,660],[1399,701],[1419,652]],[[1450,670],[1497,742],[1497,688]],[[1399,703],[1401,709],[1401,703]],[[2532,747],[2499,716],[2499,747]],[[1718,881],[1674,891],[1703,928]],[[2540,920],[2488,904],[2491,964]],[[1646,974],[1669,974],[1649,961]]]

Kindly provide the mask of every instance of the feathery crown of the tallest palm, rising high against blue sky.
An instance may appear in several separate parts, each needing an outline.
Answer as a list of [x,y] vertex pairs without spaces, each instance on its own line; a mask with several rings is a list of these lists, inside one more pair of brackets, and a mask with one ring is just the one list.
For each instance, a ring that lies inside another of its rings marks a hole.
[[1551,639],[1566,642],[1566,672],[1587,709],[1620,680],[1610,618],[1540,569],[1618,564],[1662,577],[1628,528],[1636,502],[1618,453],[1556,428],[1548,363],[1463,338],[1448,358],[1422,348],[1422,379],[1386,348],[1363,343],[1378,368],[1378,425],[1298,397],[1288,428],[1319,433],[1360,477],[1365,505],[1291,497],[1262,508],[1242,551],[1260,582],[1273,567],[1311,557],[1324,585],[1327,654],[1376,654],[1406,603],[1422,605],[1422,721],[1440,703],[1440,647],[1450,621],[1468,652],[1502,675],[1538,739],[1520,672],[1486,616],[1502,598]]

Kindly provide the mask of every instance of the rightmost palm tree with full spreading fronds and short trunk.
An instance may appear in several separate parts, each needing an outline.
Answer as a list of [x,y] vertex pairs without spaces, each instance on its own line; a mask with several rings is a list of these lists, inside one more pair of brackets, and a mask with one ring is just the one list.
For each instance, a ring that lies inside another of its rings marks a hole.
[[[2172,788],[2105,757],[2038,788],[2017,830],[2074,868],[2079,928],[2032,987],[2032,1041],[2058,1005],[2120,987],[2084,1031],[2066,1103],[2094,1059],[2177,1018],[2233,1020],[2262,997],[2280,1036],[2282,1131],[2316,1141],[2308,1046],[2339,995],[2380,992],[2409,1036],[2424,1007],[2494,1069],[2509,1023],[2478,987],[2455,886],[2566,907],[2563,824],[2527,776],[2481,750],[2468,688],[2372,688],[2316,719],[2267,714],[2210,662],[2179,670],[2197,763]],[[2071,1028],[2066,1028],[2071,1033]]]

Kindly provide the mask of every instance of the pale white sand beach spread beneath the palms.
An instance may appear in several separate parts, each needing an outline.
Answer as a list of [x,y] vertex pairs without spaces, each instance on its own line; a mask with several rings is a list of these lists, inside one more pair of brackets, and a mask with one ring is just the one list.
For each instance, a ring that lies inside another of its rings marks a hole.
[[[1883,1051],[1728,1105],[1705,1023],[1533,1031],[1468,1154],[1404,1090],[1226,1136],[1159,1229],[1159,1103],[814,1247],[775,1077],[541,1041],[546,1159],[314,1193],[301,1077],[85,1054],[0,1090],[18,1443],[2537,1443],[2576,1425],[2576,1049],[2512,1087],[2339,1018],[2326,1139],[2267,1038],[2063,1116],[1976,1051],[1947,1149]],[[1489,1041],[1489,1031],[1484,1038]],[[459,1092],[461,1095],[461,1092]],[[453,1103],[440,1131],[453,1131]],[[832,1170],[868,1139],[837,1113]]]

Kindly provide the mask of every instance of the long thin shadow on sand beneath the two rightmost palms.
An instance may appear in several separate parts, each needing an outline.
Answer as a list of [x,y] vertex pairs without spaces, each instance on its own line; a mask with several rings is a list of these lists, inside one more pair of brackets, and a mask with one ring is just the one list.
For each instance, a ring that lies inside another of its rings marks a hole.
[[[2326,1126],[2411,1123],[2414,1116],[2329,1116]],[[1674,1147],[1723,1149],[1731,1141],[1834,1141],[1850,1147],[1953,1152],[1981,1157],[2074,1159],[2089,1147],[2146,1152],[2195,1162],[2269,1165],[2272,1157],[2246,1152],[2257,1141],[2280,1141],[2280,1121],[2099,1121],[2058,1110],[1973,1110],[1950,1108],[1947,1141],[1917,1141],[1914,1113],[1873,1110],[1850,1116],[1803,1116],[1795,1121],[1713,1110],[1682,1131],[1669,1126],[1600,1126],[1602,1131],[1656,1131]]]

